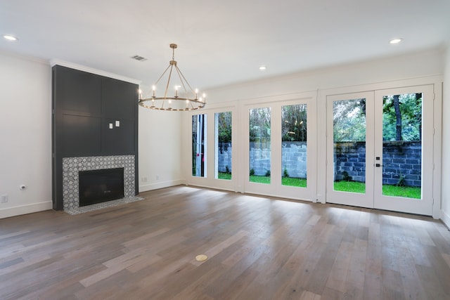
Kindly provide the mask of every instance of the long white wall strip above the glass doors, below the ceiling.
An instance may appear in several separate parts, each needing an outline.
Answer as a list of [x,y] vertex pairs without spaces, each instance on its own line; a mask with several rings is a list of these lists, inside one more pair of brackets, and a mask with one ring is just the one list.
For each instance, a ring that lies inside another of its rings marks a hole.
[[[207,90],[208,104],[442,74],[443,50],[338,65]],[[302,59],[302,58],[298,58]]]

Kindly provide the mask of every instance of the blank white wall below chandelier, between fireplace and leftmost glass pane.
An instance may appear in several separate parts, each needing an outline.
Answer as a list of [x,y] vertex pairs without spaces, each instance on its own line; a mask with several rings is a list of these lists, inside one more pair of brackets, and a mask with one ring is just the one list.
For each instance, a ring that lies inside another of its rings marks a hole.
[[139,106],[139,192],[184,183],[181,113]]

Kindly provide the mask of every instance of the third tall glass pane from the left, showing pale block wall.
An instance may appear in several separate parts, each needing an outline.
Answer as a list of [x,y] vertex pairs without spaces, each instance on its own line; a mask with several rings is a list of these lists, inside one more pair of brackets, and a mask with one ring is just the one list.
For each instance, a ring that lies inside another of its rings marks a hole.
[[250,182],[270,183],[270,107],[254,108],[250,112]]

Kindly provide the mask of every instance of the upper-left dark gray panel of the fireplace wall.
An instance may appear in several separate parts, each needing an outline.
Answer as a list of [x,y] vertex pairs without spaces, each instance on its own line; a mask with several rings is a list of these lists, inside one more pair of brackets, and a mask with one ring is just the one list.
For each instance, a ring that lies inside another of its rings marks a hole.
[[101,115],[101,76],[56,66],[56,94],[62,112]]

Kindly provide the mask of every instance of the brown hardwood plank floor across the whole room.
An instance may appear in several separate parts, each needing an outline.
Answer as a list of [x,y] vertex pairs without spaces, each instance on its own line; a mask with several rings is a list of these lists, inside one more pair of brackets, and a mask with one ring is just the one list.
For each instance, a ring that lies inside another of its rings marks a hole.
[[1,219],[0,299],[450,299],[439,221],[186,186],[141,196]]

